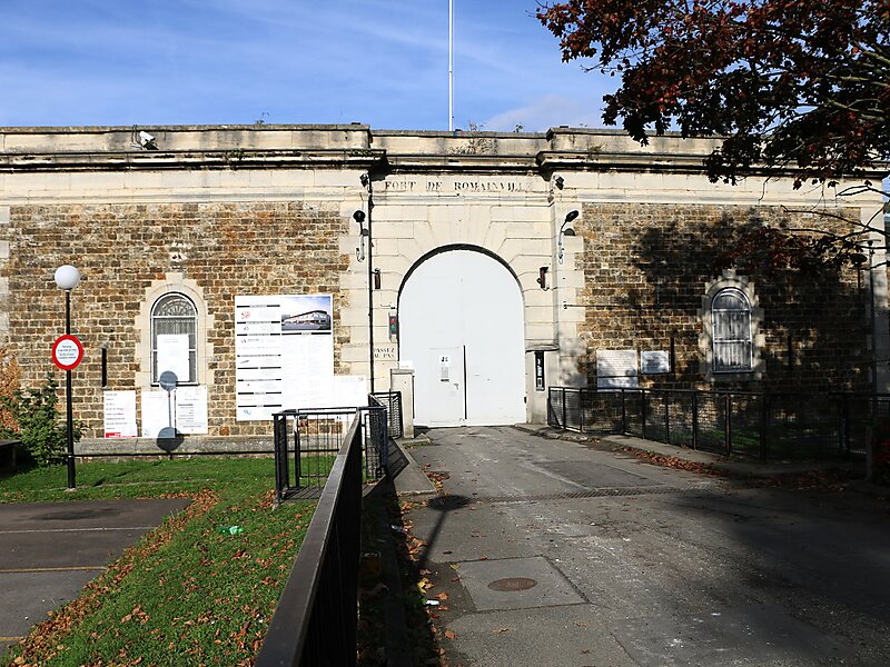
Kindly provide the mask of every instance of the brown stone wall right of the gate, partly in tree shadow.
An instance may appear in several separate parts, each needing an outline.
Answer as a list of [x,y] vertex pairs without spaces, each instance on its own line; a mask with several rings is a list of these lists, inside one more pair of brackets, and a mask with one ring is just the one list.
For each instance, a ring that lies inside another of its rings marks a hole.
[[[848,215],[851,212],[848,211]],[[859,211],[852,211],[856,220]],[[597,349],[669,350],[675,372],[643,376],[650,386],[829,390],[870,388],[868,272],[846,267],[817,276],[739,267],[762,309],[759,378],[721,380],[703,372],[702,297],[715,260],[740,233],[764,223],[842,229],[822,216],[781,207],[592,203],[575,225],[575,258],[585,287],[578,370],[596,384]],[[849,231],[849,228],[847,229]],[[790,339],[790,341],[789,341]],[[791,356],[789,357],[789,345]]]

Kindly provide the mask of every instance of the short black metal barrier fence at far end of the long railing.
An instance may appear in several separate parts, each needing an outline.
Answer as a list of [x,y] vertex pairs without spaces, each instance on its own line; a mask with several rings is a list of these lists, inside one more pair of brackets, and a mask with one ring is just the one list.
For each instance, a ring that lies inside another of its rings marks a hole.
[[313,495],[320,490],[343,438],[356,419],[364,455],[364,478],[382,479],[386,475],[389,449],[386,407],[283,410],[273,415],[275,491],[279,502],[294,495]]

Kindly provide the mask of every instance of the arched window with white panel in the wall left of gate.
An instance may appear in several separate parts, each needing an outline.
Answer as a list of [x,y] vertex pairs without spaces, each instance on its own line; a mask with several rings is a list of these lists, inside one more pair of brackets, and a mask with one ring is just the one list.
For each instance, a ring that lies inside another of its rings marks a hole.
[[198,310],[179,292],[161,296],[151,307],[152,385],[165,370],[174,370],[179,385],[198,382]]

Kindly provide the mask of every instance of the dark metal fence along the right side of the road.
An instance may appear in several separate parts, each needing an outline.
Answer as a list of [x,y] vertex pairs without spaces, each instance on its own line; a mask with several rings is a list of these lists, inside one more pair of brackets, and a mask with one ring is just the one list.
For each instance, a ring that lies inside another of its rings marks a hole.
[[890,395],[551,387],[547,424],[762,460],[864,454]]

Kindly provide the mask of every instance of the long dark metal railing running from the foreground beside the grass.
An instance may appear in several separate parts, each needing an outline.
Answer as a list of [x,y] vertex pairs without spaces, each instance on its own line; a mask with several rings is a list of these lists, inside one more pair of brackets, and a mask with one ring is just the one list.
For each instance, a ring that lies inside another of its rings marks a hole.
[[[275,425],[288,427],[285,418]],[[257,667],[356,663],[362,429],[362,415],[354,414],[269,621]]]

